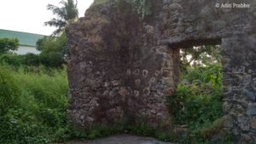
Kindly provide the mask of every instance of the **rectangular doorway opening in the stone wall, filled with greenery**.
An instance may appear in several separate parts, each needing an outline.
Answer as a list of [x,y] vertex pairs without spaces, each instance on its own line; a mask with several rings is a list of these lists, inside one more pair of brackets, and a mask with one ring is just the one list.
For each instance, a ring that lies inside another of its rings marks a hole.
[[180,49],[180,78],[169,105],[173,123],[183,125],[196,142],[221,130],[223,72],[220,45]]

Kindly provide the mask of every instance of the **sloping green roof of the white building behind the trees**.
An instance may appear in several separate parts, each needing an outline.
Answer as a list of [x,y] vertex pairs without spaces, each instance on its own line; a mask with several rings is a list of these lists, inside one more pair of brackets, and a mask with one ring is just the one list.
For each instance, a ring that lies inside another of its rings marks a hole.
[[18,38],[20,41],[20,45],[35,47],[37,45],[38,39],[44,37],[44,35],[27,33],[27,32],[15,32],[15,31],[0,29],[0,38],[4,38],[4,37]]

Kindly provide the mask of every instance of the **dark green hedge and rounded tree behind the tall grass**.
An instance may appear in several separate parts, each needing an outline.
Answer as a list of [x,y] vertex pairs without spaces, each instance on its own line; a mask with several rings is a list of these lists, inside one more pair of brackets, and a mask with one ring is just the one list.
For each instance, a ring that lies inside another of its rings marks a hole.
[[11,66],[49,66],[61,67],[67,60],[67,38],[65,33],[60,37],[44,37],[38,40],[40,55],[3,54],[0,55],[0,63]]

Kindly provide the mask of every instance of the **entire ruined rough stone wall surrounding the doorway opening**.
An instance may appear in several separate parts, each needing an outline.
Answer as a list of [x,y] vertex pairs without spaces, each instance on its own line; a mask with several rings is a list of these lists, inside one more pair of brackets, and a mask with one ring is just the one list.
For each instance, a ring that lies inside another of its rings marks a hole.
[[[172,123],[165,105],[178,82],[180,48],[221,44],[224,130],[256,141],[256,12],[253,0],[159,0],[140,15],[125,0],[94,4],[67,29],[68,113],[73,122],[114,124],[143,118]],[[248,3],[249,8],[217,8]]]

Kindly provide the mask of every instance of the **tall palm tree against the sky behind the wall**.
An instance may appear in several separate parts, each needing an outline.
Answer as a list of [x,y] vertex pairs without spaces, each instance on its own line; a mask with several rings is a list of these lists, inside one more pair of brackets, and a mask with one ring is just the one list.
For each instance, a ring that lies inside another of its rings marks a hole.
[[63,5],[61,8],[52,4],[47,5],[47,9],[52,10],[52,13],[58,17],[44,23],[45,26],[57,27],[57,30],[55,30],[54,34],[59,34],[63,32],[66,26],[68,26],[74,20],[77,20],[77,18],[79,17],[77,1],[76,3],[74,3],[73,0],[61,0],[61,4]]

